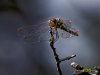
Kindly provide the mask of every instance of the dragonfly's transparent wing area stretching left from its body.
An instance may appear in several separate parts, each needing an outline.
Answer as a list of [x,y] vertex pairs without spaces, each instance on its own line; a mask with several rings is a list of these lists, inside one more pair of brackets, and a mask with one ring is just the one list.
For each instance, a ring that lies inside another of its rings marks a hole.
[[19,36],[22,36],[28,42],[40,42],[43,40],[48,40],[49,37],[49,27],[47,22],[43,22],[36,25],[21,26],[17,28]]

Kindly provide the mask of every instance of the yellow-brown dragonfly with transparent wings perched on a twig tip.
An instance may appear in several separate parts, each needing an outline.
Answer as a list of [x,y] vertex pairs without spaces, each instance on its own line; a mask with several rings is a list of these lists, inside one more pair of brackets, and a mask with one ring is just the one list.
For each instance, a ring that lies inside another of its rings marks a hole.
[[25,40],[34,43],[41,42],[41,39],[43,41],[47,40],[47,38],[50,37],[50,32],[52,31],[54,35],[54,42],[56,42],[59,37],[66,39],[72,36],[78,36],[78,31],[75,28],[72,28],[71,23],[72,22],[70,20],[62,18],[51,18],[46,22],[41,22],[40,24],[21,26],[17,28],[17,32]]

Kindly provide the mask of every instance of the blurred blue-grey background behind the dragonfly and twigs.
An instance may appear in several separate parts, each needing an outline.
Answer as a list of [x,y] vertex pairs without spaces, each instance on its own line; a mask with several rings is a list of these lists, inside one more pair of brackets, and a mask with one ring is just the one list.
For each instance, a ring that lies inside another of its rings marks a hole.
[[59,39],[55,45],[60,58],[77,55],[61,64],[64,75],[73,74],[73,61],[100,66],[99,0],[0,0],[0,75],[58,75],[48,42],[25,43],[16,32],[49,17],[70,19],[79,30],[79,37]]

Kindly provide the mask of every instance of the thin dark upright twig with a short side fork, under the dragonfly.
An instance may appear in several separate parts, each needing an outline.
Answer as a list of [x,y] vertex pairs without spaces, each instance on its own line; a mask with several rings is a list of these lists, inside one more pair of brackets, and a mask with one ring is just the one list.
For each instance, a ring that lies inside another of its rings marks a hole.
[[72,55],[72,56],[68,56],[66,58],[60,59],[56,52],[56,48],[54,47],[55,40],[54,40],[54,34],[53,34],[52,29],[50,30],[50,35],[51,35],[51,37],[50,37],[49,43],[50,43],[50,47],[52,48],[52,51],[53,51],[53,54],[54,54],[54,57],[56,60],[57,71],[59,72],[59,75],[63,75],[61,68],[60,68],[60,63],[65,60],[70,60],[71,58],[76,57],[76,55]]

